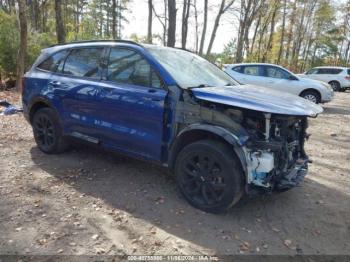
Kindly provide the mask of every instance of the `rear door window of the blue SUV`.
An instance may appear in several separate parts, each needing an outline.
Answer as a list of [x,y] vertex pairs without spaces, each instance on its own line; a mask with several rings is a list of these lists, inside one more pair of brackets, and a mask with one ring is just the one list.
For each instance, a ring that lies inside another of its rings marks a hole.
[[63,73],[100,79],[100,59],[103,48],[73,49],[64,63]]

